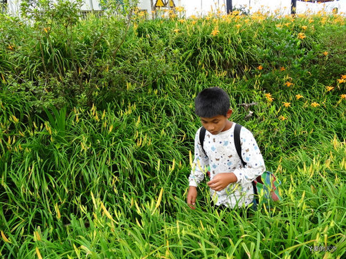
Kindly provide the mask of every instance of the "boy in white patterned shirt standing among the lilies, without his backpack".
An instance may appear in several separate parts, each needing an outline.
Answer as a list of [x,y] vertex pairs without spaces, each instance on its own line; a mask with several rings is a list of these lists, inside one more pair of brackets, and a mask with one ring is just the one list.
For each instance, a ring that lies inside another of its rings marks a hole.
[[[252,181],[266,170],[260,149],[253,134],[242,127],[240,143],[242,165],[234,144],[235,123],[228,119],[232,114],[230,97],[221,88],[202,90],[195,99],[195,113],[206,128],[203,148],[199,133],[194,140],[194,162],[189,177],[188,205],[194,209],[197,185],[203,180],[207,166],[210,166],[210,196],[217,207],[237,208],[253,202]],[[206,153],[204,153],[204,151]]]

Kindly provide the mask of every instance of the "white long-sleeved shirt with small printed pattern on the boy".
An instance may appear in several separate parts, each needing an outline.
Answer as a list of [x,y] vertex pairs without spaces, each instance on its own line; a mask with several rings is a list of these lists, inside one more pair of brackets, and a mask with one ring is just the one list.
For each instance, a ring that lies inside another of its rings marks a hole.
[[253,202],[253,180],[266,171],[264,160],[257,142],[251,131],[242,127],[240,131],[240,144],[242,158],[246,162],[243,167],[242,160],[237,154],[234,142],[235,123],[227,131],[212,135],[206,131],[203,152],[199,143],[199,132],[194,139],[194,161],[190,173],[190,186],[197,186],[210,170],[210,180],[218,173],[234,173],[237,182],[229,184],[224,190],[210,189],[210,196],[215,204],[224,204],[226,207],[242,207]]

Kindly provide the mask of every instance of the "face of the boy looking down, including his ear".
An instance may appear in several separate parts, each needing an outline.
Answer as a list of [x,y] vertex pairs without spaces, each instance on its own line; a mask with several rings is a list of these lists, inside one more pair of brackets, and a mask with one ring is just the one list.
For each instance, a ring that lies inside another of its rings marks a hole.
[[215,117],[200,117],[201,123],[207,131],[212,133],[212,135],[217,135],[222,131],[227,131],[232,126],[232,122],[228,119],[232,115],[232,110],[229,109],[226,116],[225,115],[217,115]]

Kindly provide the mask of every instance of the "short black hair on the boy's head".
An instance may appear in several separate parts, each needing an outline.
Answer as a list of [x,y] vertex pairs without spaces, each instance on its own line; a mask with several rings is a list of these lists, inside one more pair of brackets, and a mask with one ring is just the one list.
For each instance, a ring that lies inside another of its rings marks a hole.
[[194,113],[199,117],[215,117],[227,115],[230,108],[230,97],[219,87],[201,90],[194,99]]

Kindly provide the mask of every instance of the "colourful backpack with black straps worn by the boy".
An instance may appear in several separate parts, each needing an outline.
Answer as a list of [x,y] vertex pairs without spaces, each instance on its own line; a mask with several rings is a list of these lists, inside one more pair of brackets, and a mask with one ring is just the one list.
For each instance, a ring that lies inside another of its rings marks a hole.
[[[242,125],[235,124],[235,132],[234,132],[234,140],[235,140],[235,149],[237,150],[237,154],[242,160],[243,166],[246,165],[246,162],[242,157],[242,146],[240,144],[240,130],[242,129]],[[203,152],[206,154],[206,151],[203,148],[204,137],[206,136],[206,128],[201,127],[201,131],[199,131],[199,142],[201,143],[201,147]],[[280,180],[275,178],[275,175],[270,171],[265,171],[262,175],[258,176],[255,180],[253,180],[253,191],[255,193],[255,199],[257,204],[259,204],[258,193],[264,195],[264,201],[268,201],[270,198],[272,200],[282,200],[278,186],[281,184]]]

